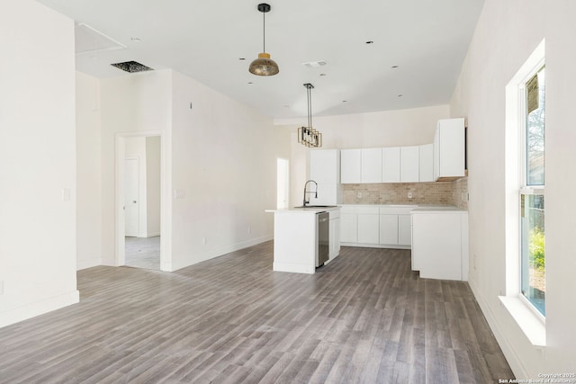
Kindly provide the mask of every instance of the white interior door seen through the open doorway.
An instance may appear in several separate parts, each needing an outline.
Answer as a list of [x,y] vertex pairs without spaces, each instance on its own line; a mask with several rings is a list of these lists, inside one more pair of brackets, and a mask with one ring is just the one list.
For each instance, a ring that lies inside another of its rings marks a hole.
[[139,162],[127,158],[124,164],[124,235],[138,236],[139,226]]

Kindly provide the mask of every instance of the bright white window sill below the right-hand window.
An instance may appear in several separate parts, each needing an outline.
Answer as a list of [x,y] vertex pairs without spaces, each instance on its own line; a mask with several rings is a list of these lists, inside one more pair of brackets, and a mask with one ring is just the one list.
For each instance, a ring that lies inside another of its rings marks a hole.
[[499,296],[502,305],[516,320],[524,335],[536,348],[546,346],[546,326],[518,297]]

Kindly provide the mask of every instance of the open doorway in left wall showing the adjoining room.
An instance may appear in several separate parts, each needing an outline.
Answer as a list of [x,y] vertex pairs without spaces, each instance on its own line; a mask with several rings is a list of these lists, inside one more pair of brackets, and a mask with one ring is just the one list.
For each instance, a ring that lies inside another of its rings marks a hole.
[[171,271],[163,132],[116,136],[116,265]]

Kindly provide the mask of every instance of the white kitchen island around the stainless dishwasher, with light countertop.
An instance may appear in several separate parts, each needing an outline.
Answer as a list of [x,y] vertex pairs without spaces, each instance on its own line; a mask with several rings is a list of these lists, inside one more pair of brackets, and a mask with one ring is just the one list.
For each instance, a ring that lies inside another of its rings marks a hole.
[[266,210],[274,213],[274,264],[279,272],[315,273],[319,252],[317,214],[329,213],[329,263],[340,250],[340,209],[331,207],[304,207],[285,210]]

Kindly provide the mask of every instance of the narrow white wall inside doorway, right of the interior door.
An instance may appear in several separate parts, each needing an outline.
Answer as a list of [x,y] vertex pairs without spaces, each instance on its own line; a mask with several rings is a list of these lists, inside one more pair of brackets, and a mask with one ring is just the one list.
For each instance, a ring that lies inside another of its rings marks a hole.
[[146,237],[160,236],[160,137],[146,138]]

